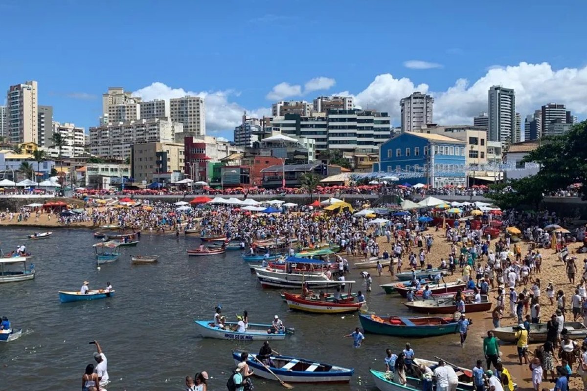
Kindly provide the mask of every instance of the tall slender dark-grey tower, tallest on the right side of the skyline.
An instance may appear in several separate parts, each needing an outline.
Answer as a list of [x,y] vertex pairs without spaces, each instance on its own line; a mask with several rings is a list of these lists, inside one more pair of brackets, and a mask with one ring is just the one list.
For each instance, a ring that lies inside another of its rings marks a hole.
[[515,131],[515,93],[512,89],[492,86],[488,99],[487,139],[511,144]]

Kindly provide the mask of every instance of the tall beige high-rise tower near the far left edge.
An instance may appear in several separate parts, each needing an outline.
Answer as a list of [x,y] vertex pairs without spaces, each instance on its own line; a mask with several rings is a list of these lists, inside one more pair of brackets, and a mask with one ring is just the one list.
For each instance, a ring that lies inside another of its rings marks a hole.
[[37,82],[26,81],[24,84],[10,86],[6,96],[6,121],[8,141],[38,142],[39,119],[37,117]]

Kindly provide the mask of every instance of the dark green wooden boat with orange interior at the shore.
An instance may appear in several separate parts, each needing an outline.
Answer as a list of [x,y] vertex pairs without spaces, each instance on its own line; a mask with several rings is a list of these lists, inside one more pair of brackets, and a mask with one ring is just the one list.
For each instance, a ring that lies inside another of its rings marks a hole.
[[458,331],[458,323],[453,318],[441,317],[379,317],[359,315],[361,327],[365,332],[393,336],[436,336]]

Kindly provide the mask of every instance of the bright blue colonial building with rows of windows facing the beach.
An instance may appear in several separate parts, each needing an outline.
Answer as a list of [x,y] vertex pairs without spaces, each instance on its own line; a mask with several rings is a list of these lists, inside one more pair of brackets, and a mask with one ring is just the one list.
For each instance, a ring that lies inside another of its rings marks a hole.
[[441,134],[403,132],[379,148],[373,171],[399,176],[400,183],[435,188],[465,186],[465,142]]

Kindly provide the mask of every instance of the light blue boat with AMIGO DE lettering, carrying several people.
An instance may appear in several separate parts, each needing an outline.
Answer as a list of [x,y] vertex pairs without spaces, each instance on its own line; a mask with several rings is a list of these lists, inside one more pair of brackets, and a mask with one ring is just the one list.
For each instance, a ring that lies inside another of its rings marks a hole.
[[271,324],[249,323],[247,331],[231,331],[230,328],[237,326],[237,322],[226,322],[229,329],[221,329],[214,326],[214,321],[195,320],[200,335],[204,338],[230,339],[233,341],[281,341],[287,334],[293,334],[293,329],[286,329],[285,332],[270,334]]

